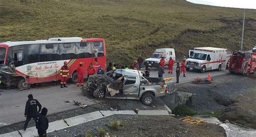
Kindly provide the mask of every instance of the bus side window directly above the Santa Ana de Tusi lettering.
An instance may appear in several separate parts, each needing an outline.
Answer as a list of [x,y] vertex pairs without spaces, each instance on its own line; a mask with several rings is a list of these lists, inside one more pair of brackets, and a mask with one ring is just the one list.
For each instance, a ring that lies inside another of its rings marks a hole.
[[41,44],[39,61],[57,61],[60,60],[58,44]]

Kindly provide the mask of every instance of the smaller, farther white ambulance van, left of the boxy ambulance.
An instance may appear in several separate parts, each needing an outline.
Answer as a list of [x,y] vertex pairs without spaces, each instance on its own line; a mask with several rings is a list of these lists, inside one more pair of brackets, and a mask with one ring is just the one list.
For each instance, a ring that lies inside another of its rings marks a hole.
[[170,56],[175,61],[175,51],[173,48],[159,48],[156,49],[156,51],[150,55],[149,59],[146,59],[144,61],[145,66],[150,67],[159,67],[160,59],[164,56],[165,59],[165,65],[168,65]]

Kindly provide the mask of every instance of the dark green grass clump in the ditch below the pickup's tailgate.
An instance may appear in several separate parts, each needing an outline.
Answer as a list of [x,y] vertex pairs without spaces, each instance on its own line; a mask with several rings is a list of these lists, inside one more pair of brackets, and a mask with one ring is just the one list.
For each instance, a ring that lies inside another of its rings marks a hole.
[[172,113],[181,116],[193,116],[194,114],[197,114],[196,111],[190,109],[190,107],[186,105],[175,107],[175,109],[172,110]]

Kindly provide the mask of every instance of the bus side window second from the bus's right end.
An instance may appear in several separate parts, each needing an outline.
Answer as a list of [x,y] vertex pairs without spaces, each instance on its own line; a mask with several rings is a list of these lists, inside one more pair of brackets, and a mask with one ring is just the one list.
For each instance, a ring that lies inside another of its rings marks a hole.
[[79,42],[76,44],[77,59],[92,57],[92,48],[87,46],[87,42]]

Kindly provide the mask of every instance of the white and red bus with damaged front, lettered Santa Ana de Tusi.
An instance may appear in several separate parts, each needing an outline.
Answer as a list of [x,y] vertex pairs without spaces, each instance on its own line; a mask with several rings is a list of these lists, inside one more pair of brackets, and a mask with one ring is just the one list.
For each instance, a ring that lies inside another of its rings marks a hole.
[[68,62],[70,70],[68,78],[74,83],[79,62],[84,62],[85,76],[90,63],[96,69],[99,66],[105,69],[104,39],[71,37],[0,43],[0,82],[25,89],[33,83],[57,81],[64,61]]

